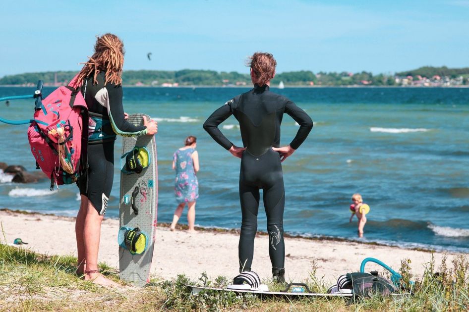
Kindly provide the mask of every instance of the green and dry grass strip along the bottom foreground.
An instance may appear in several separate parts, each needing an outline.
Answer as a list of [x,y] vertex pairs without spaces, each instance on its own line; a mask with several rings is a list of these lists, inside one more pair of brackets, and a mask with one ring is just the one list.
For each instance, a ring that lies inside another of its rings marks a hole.
[[[410,288],[409,260],[402,260],[403,285]],[[206,273],[196,280],[184,275],[176,279],[151,280],[143,288],[124,285],[104,288],[84,281],[76,274],[76,258],[48,256],[0,244],[0,311],[468,311],[469,261],[460,255],[451,261],[426,263],[421,280],[414,281],[412,295],[399,300],[373,296],[350,302],[343,298],[261,300],[253,295],[204,291],[191,295],[187,284],[224,287],[231,278],[209,280]],[[100,271],[119,282],[117,270],[100,263]],[[346,273],[346,272],[344,272]],[[283,285],[263,281],[273,291]],[[315,292],[324,293],[331,285],[316,276],[315,263],[301,281]],[[407,290],[403,290],[407,292]]]

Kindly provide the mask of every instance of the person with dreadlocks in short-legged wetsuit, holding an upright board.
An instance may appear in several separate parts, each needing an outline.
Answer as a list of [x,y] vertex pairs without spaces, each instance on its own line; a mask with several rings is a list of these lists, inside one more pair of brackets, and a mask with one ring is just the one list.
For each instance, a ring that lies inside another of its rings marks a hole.
[[114,178],[114,141],[122,136],[154,135],[155,121],[143,118],[143,126],[126,121],[122,108],[122,41],[113,34],[97,37],[93,56],[78,73],[89,110],[88,169],[77,182],[81,205],[76,217],[78,250],[77,274],[93,283],[117,286],[98,271],[101,222],[109,201]]

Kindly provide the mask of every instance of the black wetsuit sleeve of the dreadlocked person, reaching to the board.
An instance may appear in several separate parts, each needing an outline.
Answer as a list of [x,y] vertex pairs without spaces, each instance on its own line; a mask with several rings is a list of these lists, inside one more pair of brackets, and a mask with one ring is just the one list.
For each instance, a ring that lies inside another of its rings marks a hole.
[[122,87],[107,84],[109,96],[108,114],[113,130],[121,136],[138,136],[147,133],[146,126],[135,126],[124,119],[124,108],[122,107]]

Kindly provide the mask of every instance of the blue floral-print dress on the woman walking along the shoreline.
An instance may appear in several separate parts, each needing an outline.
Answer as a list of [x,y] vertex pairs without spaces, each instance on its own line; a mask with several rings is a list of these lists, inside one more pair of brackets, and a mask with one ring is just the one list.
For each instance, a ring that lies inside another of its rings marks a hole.
[[176,180],[174,192],[178,204],[193,202],[199,197],[199,182],[194,171],[194,149],[177,150],[174,153]]

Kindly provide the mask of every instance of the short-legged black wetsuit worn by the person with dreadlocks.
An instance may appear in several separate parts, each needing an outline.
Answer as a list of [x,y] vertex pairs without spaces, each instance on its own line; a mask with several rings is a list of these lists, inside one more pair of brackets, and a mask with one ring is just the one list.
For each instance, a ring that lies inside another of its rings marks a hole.
[[116,134],[142,135],[146,133],[146,127],[137,127],[124,119],[121,86],[108,82],[105,87],[104,73],[98,74],[97,81],[98,83],[93,85],[93,76],[91,76],[82,85],[90,113],[89,167],[77,184],[80,194],[89,199],[100,215],[104,215],[113,187]]

